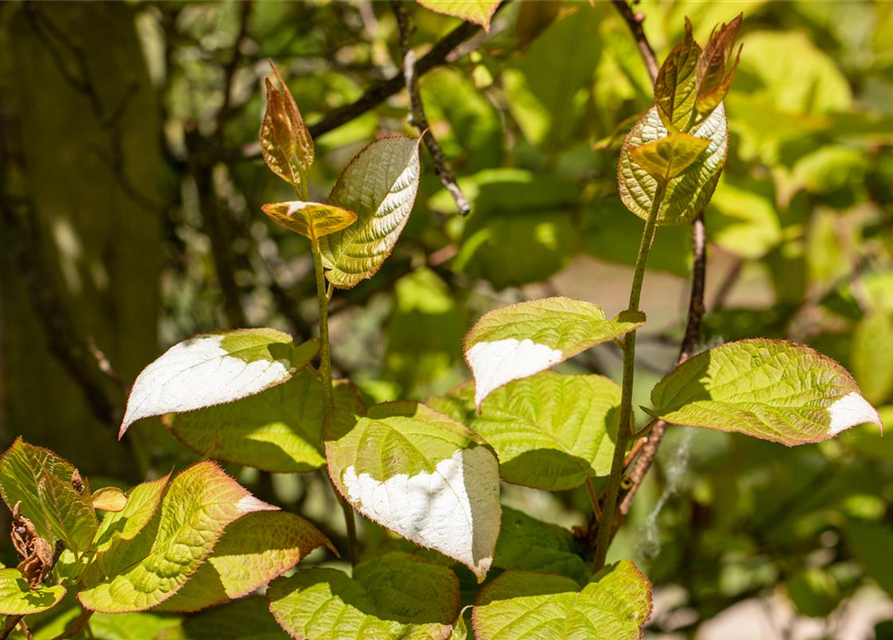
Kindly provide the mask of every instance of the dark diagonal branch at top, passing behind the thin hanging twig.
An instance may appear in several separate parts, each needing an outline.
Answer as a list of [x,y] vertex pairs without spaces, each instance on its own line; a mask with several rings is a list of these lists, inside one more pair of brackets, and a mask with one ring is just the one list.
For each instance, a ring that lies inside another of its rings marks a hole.
[[[512,0],[503,0],[502,4],[496,9],[496,12],[498,13],[502,11],[505,7],[511,4],[511,2]],[[448,57],[453,50],[481,29],[482,27],[476,24],[463,22],[450,31],[443,38],[438,40],[428,53],[416,61],[416,76],[422,77],[431,71],[431,69],[450,62]],[[402,91],[405,86],[406,78],[403,75],[403,71],[400,71],[393,77],[383,80],[367,89],[356,101],[330,111],[322,120],[308,126],[307,129],[310,131],[310,135],[313,138],[318,138],[329,131],[337,129],[341,125],[347,124],[351,120],[358,118],[367,111],[374,109],[394,94]],[[248,146],[248,151],[244,153],[243,159],[259,160],[260,157],[260,148],[258,144],[252,143]]]

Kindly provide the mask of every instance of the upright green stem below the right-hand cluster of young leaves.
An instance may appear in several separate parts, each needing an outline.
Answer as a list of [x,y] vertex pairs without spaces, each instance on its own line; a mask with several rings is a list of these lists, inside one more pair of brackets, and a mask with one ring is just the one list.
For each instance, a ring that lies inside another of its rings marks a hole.
[[[639,299],[642,297],[642,284],[645,280],[645,265],[648,262],[648,252],[654,242],[654,234],[657,229],[657,216],[664,199],[666,186],[658,184],[645,222],[645,230],[642,232],[642,241],[639,244],[639,255],[636,257],[636,270],[633,274],[633,284],[629,292],[629,311],[639,310]],[[602,517],[599,521],[598,537],[595,546],[595,570],[605,566],[605,558],[608,556],[608,547],[611,545],[611,533],[613,529],[614,513],[617,508],[617,499],[620,495],[620,485],[623,481],[623,472],[626,466],[626,445],[629,443],[633,429],[633,383],[636,370],[636,332],[630,331],[623,341],[623,382],[620,396],[620,426],[617,429],[617,441],[614,443],[614,460],[611,464],[611,475],[608,478],[608,486],[605,489],[605,500],[602,506]]]

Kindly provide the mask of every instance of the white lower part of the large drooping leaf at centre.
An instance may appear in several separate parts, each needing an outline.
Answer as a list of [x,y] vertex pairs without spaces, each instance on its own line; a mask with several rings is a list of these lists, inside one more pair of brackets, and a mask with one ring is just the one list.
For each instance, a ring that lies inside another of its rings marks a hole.
[[434,473],[400,473],[380,482],[357,476],[351,465],[341,479],[351,503],[364,515],[423,547],[435,549],[484,579],[493,562],[502,509],[499,463],[486,447],[459,449]]

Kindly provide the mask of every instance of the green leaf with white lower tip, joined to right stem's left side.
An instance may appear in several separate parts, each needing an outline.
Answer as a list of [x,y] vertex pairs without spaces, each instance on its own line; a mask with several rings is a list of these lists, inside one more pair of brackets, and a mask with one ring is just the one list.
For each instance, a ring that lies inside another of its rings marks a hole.
[[572,298],[531,300],[485,314],[465,336],[475,405],[512,380],[554,367],[645,322],[643,314],[605,319],[601,307]]

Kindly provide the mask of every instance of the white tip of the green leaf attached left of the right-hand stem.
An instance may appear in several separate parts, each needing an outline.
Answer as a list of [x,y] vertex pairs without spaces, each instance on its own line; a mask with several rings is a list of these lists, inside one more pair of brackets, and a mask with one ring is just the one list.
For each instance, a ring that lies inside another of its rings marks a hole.
[[512,380],[527,378],[564,360],[559,349],[525,338],[478,342],[468,350],[474,375],[474,404],[480,411],[484,398]]

